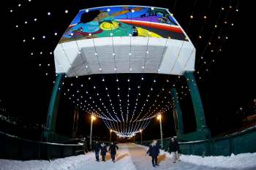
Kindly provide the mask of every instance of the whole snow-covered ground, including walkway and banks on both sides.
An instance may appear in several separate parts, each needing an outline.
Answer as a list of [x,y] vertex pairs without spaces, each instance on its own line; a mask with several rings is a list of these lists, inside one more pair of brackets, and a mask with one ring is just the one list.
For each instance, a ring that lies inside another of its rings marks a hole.
[[94,153],[59,158],[53,161],[10,161],[0,159],[0,170],[256,170],[256,153],[231,155],[230,157],[200,157],[182,155],[181,162],[172,163],[170,154],[161,150],[159,166],[151,166],[151,158],[146,155],[147,147],[137,144],[118,144],[116,163],[107,155],[106,162],[96,162]]

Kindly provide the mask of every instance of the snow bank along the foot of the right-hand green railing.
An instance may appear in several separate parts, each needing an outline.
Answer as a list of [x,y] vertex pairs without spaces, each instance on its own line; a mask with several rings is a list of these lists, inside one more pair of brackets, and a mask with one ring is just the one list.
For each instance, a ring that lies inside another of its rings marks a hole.
[[[140,147],[148,147],[138,145]],[[161,155],[166,155],[167,158],[172,158],[169,152],[160,150]],[[181,161],[193,163],[198,166],[208,166],[211,168],[223,169],[253,169],[256,170],[256,152],[254,153],[241,153],[238,155],[230,156],[206,156],[201,157],[197,155],[181,155]]]

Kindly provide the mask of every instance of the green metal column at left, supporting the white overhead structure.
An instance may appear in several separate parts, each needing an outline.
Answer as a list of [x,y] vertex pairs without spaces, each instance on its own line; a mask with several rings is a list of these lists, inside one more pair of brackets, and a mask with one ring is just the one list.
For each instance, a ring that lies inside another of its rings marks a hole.
[[50,96],[50,103],[48,107],[48,115],[46,122],[46,129],[43,137],[46,142],[53,142],[56,136],[56,118],[59,107],[59,99],[61,97],[61,84],[64,81],[65,74],[58,74],[56,82],[53,87],[52,94]]

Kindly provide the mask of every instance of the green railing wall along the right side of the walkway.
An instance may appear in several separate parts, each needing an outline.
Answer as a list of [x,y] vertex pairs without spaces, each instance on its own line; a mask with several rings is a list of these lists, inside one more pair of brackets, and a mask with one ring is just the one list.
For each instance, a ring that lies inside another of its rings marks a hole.
[[[160,141],[158,139],[158,141]],[[152,141],[144,141],[149,145]],[[217,139],[207,139],[195,142],[178,142],[181,152],[185,155],[231,155],[256,152],[256,127],[246,129],[236,134],[230,134]],[[140,142],[137,142],[140,144]],[[163,140],[163,149],[167,150],[170,138]]]

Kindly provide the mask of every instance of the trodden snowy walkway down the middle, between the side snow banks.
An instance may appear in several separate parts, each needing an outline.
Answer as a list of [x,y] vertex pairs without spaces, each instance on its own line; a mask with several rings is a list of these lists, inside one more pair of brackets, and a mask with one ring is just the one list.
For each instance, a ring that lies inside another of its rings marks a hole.
[[[106,162],[96,162],[93,160],[86,161],[77,170],[237,170],[218,167],[200,166],[193,163],[182,161],[172,163],[166,154],[159,155],[159,166],[154,168],[151,165],[151,157],[146,155],[146,147],[141,147],[136,144],[119,144],[118,154],[116,155],[116,163],[110,160],[110,155],[107,156]],[[217,165],[218,166],[218,165]],[[244,169],[245,170],[245,169]],[[251,169],[246,169],[251,170]],[[253,170],[253,169],[252,169]]]

